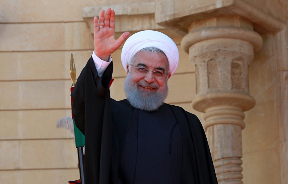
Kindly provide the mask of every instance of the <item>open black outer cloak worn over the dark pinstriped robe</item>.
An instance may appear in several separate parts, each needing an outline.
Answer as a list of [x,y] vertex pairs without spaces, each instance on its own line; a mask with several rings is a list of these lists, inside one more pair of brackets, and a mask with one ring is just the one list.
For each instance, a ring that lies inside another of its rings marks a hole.
[[[110,63],[100,78],[91,57],[71,93],[76,126],[85,135],[86,184],[117,182],[119,150],[124,145],[132,108],[125,100],[110,98],[112,72],[113,63]],[[181,128],[183,184],[217,183],[208,142],[199,119],[181,107],[169,106]]]

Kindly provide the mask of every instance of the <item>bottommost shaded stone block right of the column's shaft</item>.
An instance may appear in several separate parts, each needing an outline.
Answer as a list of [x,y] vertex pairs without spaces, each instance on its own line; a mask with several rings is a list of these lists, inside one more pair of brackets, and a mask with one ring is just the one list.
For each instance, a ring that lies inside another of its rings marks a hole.
[[277,148],[244,154],[243,167],[245,183],[280,183]]

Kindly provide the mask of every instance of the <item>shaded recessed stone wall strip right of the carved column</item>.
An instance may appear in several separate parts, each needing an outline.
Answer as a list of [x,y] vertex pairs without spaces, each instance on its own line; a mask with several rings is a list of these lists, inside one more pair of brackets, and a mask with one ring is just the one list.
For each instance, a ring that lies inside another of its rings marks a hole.
[[[280,183],[277,77],[271,42],[262,35],[262,50],[249,68],[250,94],[256,105],[245,113],[243,134],[244,183]],[[265,177],[263,177],[265,176]]]

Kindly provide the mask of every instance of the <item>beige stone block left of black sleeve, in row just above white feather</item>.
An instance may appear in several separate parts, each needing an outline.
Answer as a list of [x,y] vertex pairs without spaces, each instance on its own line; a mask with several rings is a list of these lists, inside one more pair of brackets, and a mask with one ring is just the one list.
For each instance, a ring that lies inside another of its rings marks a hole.
[[[67,80],[67,83],[70,81]],[[0,109],[65,108],[65,80],[0,82]],[[71,86],[71,82],[69,84]],[[67,90],[70,90],[70,86]],[[70,95],[70,92],[68,93]],[[68,97],[69,98],[69,97]]]

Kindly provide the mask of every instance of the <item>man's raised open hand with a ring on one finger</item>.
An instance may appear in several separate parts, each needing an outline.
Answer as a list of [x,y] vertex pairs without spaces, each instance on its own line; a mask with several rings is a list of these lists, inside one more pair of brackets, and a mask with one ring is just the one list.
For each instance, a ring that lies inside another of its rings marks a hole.
[[108,61],[109,56],[117,50],[123,41],[130,35],[124,32],[115,40],[115,12],[108,8],[104,17],[104,10],[100,11],[98,18],[94,17],[94,53],[100,59]]

